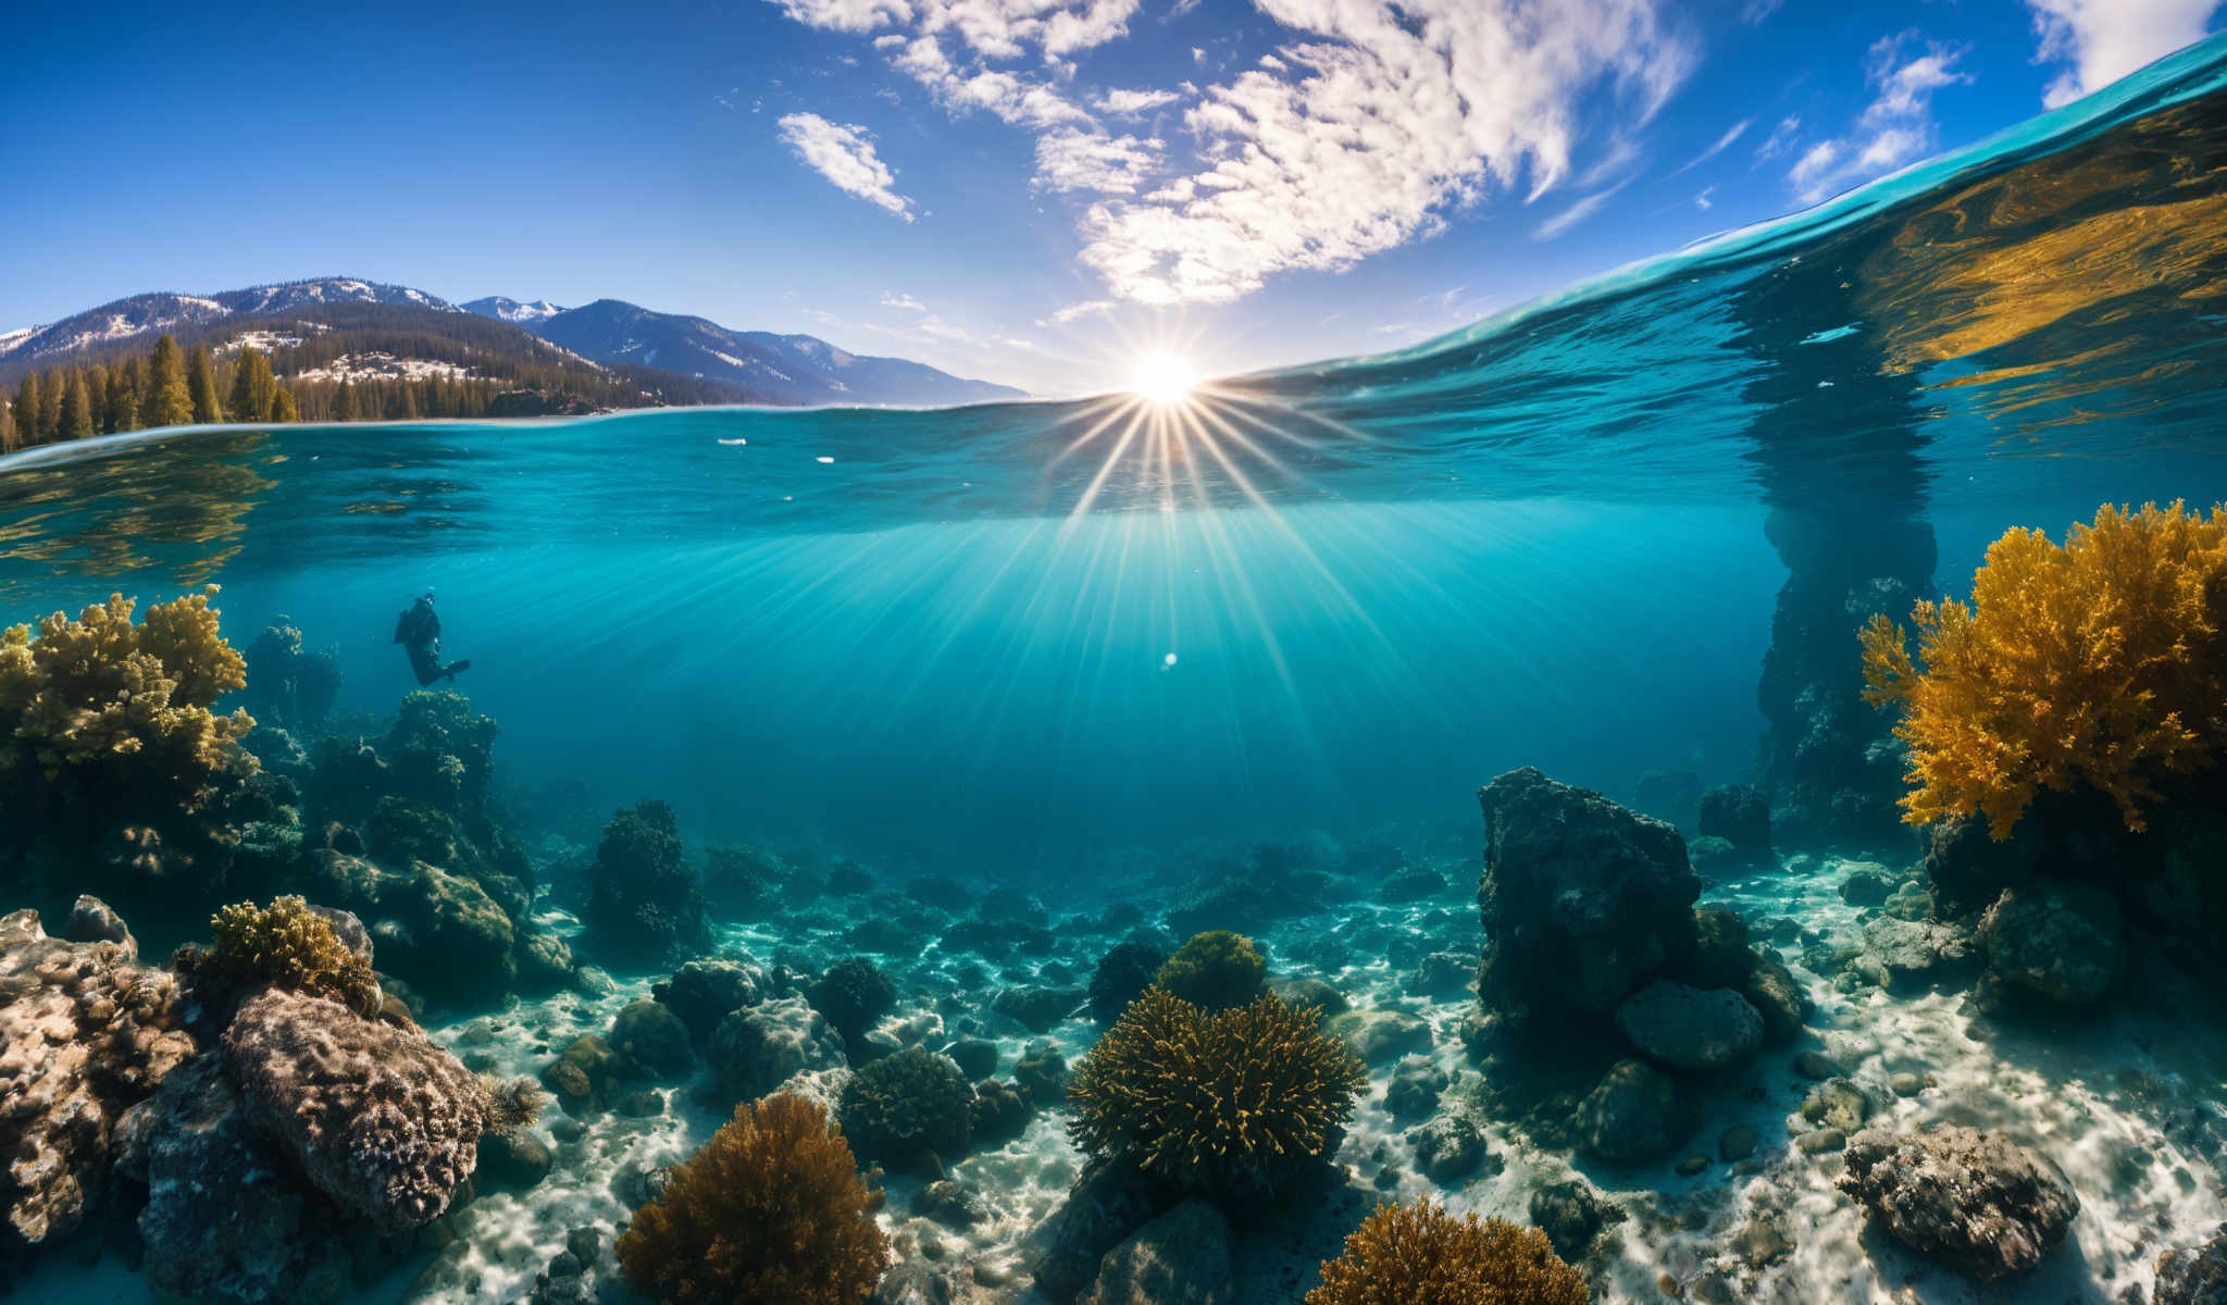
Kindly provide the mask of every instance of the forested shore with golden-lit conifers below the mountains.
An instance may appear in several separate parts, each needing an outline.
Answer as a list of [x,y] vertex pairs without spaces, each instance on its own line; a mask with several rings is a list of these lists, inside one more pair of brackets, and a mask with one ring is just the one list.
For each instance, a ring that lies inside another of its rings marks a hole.
[[[488,325],[503,330],[501,323]],[[457,330],[445,321],[443,327]],[[448,363],[474,374],[305,379],[367,354]],[[668,394],[675,387],[679,392]],[[200,343],[187,352],[165,332],[145,356],[107,354],[82,365],[24,372],[7,408],[0,408],[0,450],[214,421],[419,421],[719,401],[733,401],[733,394],[695,379],[632,367],[595,370],[570,356],[548,363],[517,359],[472,338],[379,321],[325,330],[269,354],[241,347],[212,356]]]

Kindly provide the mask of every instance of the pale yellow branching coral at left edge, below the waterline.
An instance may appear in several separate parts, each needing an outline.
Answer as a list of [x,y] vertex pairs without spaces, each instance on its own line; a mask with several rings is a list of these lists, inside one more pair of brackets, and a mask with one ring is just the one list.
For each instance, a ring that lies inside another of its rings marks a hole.
[[111,595],[76,621],[62,612],[0,632],[0,777],[22,795],[76,782],[85,793],[154,786],[196,808],[212,779],[252,768],[238,739],[254,719],[209,710],[245,684],[245,661],[216,628],[216,586],[154,604]]

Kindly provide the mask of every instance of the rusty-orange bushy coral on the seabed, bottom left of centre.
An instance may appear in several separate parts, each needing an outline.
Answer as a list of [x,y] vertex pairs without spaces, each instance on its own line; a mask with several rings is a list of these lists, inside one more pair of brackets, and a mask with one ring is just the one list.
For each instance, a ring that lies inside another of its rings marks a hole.
[[842,1129],[779,1093],[742,1105],[619,1236],[619,1267],[668,1305],[860,1305],[882,1278],[875,1196]]

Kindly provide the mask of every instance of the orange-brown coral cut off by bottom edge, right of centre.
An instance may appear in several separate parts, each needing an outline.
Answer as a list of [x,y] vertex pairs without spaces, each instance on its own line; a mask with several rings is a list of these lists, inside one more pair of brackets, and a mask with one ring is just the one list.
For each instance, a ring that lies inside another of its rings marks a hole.
[[1454,1218],[1428,1198],[1383,1205],[1323,1260],[1307,1305],[1586,1305],[1583,1274],[1546,1234],[1474,1214]]

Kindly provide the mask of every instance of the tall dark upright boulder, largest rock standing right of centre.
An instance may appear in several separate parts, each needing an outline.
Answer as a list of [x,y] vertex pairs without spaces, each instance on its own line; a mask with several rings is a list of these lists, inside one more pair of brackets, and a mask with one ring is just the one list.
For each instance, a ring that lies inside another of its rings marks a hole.
[[1563,1036],[1566,1013],[1615,1011],[1693,946],[1701,877],[1677,828],[1539,771],[1479,791],[1485,929],[1479,995],[1492,1011]]

